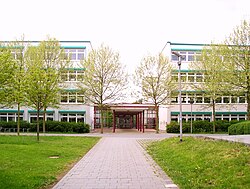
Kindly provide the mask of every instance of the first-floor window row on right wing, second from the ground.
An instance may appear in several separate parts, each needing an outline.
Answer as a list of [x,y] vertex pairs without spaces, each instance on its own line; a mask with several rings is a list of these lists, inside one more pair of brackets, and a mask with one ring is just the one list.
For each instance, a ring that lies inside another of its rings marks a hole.
[[[194,104],[210,104],[212,99],[207,97],[206,94],[203,93],[182,93],[182,103],[190,104],[192,101]],[[215,100],[216,104],[244,104],[247,103],[246,96],[222,96],[218,97]],[[178,103],[178,96],[171,98],[171,103]]]

